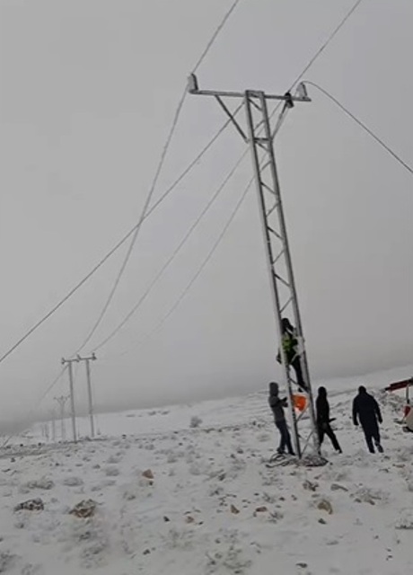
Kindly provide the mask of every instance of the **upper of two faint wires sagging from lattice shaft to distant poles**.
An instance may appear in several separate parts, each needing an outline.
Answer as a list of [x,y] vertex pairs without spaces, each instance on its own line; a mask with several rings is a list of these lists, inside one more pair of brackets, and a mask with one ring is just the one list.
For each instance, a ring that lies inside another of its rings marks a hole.
[[178,244],[178,246],[176,247],[176,249],[172,252],[171,257],[165,262],[165,264],[163,265],[162,269],[157,273],[157,275],[155,276],[154,280],[151,282],[149,288],[147,288],[144,292],[144,294],[140,297],[139,301],[136,303],[136,305],[134,305],[132,307],[132,309],[127,313],[127,315],[124,317],[124,319],[118,324],[118,326],[112,331],[110,332],[110,335],[108,335],[103,341],[101,341],[97,346],[95,346],[93,349],[94,351],[97,351],[98,349],[101,349],[104,345],[106,345],[112,338],[115,337],[115,335],[117,335],[117,333],[120,332],[120,330],[124,327],[124,325],[132,318],[132,316],[134,314],[136,314],[137,310],[140,308],[140,306],[144,303],[145,298],[151,293],[151,291],[153,290],[154,286],[158,283],[159,279],[162,278],[164,272],[170,267],[172,261],[175,260],[175,258],[177,257],[177,255],[179,254],[180,250],[183,248],[183,246],[188,242],[189,237],[195,232],[195,230],[197,229],[199,223],[201,222],[202,218],[205,217],[207,211],[209,210],[209,208],[212,207],[212,205],[214,204],[215,200],[218,198],[218,196],[220,195],[220,193],[222,192],[222,190],[224,190],[224,187],[226,186],[226,184],[228,183],[228,181],[230,181],[230,179],[233,177],[233,174],[236,172],[236,170],[239,168],[240,164],[242,163],[242,160],[244,159],[244,156],[242,155],[241,158],[239,158],[239,160],[236,162],[236,164],[234,164],[232,170],[225,176],[224,181],[221,183],[221,185],[218,187],[218,189],[215,191],[214,195],[212,196],[211,199],[209,199],[209,201],[206,204],[206,207],[202,210],[202,212],[199,214],[199,216],[197,217],[197,219],[195,220],[195,222],[192,224],[192,226],[189,227],[188,232],[184,235],[184,237],[182,238],[182,240],[180,241],[180,243]]

